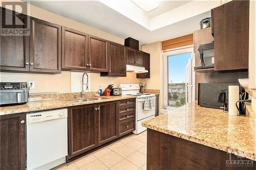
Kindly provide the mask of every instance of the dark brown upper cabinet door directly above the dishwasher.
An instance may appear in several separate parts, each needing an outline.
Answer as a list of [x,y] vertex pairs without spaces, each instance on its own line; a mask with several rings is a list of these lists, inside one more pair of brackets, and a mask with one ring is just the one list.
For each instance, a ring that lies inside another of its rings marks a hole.
[[30,71],[61,72],[61,27],[31,18]]

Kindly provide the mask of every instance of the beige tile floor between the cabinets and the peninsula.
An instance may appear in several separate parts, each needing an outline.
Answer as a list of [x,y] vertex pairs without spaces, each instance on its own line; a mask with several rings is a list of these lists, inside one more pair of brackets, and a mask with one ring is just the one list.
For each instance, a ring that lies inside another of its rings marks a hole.
[[93,153],[62,164],[54,170],[142,169],[146,170],[146,131],[132,134]]

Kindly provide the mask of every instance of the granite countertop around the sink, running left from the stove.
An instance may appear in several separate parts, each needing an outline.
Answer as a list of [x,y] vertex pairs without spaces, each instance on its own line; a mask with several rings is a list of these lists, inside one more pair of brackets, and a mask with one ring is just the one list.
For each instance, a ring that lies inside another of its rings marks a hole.
[[[0,115],[65,108],[69,106],[87,105],[87,104],[93,104],[93,103],[110,102],[110,101],[117,101],[117,100],[123,100],[123,99],[131,99],[131,98],[136,98],[136,96],[127,96],[127,95],[102,96],[101,100],[76,102],[76,103],[71,103],[66,100],[47,100],[47,101],[28,102],[27,104],[24,104],[24,105],[0,107]],[[73,99],[73,100],[76,100],[76,99]]]

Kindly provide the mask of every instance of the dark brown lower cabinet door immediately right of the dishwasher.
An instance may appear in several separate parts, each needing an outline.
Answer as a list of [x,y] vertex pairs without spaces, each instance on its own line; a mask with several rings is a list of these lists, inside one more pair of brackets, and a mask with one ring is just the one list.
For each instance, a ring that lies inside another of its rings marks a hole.
[[97,147],[97,106],[68,108],[68,159]]

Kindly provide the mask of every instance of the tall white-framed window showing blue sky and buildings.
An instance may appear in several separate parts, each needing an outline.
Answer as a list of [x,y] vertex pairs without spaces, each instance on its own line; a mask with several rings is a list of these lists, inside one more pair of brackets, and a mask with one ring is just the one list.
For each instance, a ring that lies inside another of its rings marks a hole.
[[181,107],[195,100],[193,48],[164,53],[164,106]]

